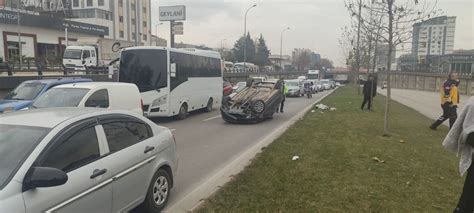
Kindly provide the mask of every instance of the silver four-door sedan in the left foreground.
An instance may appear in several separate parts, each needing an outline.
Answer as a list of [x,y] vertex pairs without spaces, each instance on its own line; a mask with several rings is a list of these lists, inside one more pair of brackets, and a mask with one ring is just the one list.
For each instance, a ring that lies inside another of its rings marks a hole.
[[0,212],[163,209],[173,187],[170,130],[128,111],[27,110],[0,117]]

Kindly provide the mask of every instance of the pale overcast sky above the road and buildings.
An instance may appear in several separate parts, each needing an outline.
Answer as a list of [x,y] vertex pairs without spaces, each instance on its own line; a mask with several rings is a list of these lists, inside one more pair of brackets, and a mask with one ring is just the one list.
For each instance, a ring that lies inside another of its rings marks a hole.
[[[252,37],[263,34],[272,54],[279,54],[280,33],[289,26],[283,54],[309,48],[344,64],[338,44],[341,28],[350,23],[344,0],[152,0],[152,22],[159,23],[159,6],[186,5],[184,35],[177,35],[176,42],[231,48],[243,35],[245,10],[252,4],[258,6],[247,16],[247,30]],[[474,0],[438,0],[437,8],[457,16],[455,49],[474,49]],[[169,22],[158,27],[158,35],[169,41]]]

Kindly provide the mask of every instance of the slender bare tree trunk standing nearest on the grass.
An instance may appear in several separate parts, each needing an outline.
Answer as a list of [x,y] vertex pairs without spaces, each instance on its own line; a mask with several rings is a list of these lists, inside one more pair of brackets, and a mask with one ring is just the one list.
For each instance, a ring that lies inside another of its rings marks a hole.
[[390,99],[391,99],[391,88],[390,88],[390,72],[392,68],[392,51],[393,51],[393,2],[395,0],[387,0],[388,6],[388,60],[387,60],[387,98],[385,99],[385,115],[384,115],[384,136],[390,137],[389,129],[389,109],[390,109]]

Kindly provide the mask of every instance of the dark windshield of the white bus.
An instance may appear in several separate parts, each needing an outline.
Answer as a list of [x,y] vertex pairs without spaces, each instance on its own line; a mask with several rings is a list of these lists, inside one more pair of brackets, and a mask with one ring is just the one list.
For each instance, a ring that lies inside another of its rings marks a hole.
[[120,59],[119,81],[137,85],[140,92],[168,86],[166,50],[125,50]]

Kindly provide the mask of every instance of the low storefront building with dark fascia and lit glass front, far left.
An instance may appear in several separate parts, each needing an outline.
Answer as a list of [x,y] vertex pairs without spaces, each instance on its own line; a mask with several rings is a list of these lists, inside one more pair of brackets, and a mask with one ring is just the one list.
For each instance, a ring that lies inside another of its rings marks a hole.
[[0,58],[5,61],[18,63],[15,59],[18,60],[21,52],[23,59],[33,58],[59,63],[66,46],[66,26],[68,41],[109,35],[109,28],[106,26],[48,15],[49,12],[53,14],[60,11],[57,10],[60,7],[51,3],[53,1],[46,7],[45,4],[37,4],[39,1],[25,0],[19,9],[17,2],[0,2],[3,3],[0,4]]

